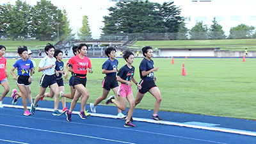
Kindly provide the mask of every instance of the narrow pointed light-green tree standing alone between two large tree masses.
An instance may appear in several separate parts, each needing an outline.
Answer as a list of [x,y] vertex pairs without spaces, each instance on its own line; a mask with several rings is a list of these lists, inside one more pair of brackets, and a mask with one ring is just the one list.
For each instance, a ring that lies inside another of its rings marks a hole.
[[70,28],[70,21],[68,20],[66,10],[63,10],[63,18],[62,18],[61,24],[62,24],[60,26],[60,29],[61,29],[60,39],[61,40],[64,40],[65,38],[67,38],[67,36],[74,36],[74,34],[71,33],[72,29]]

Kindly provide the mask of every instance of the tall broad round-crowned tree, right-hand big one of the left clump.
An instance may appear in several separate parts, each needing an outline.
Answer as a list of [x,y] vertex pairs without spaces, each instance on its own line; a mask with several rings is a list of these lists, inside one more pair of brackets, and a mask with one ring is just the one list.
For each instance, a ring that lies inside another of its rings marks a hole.
[[31,36],[39,40],[55,40],[58,33],[63,33],[63,13],[51,1],[41,0],[32,8],[33,24]]

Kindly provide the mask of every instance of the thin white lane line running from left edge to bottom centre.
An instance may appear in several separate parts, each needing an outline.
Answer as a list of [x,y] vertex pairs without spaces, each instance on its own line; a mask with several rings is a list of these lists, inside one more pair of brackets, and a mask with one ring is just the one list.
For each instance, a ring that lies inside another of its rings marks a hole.
[[[68,132],[50,131],[50,130],[46,130],[46,129],[35,129],[35,128],[31,128],[31,127],[20,127],[20,126],[15,126],[15,125],[4,125],[4,124],[0,124],[0,125],[3,127],[15,127],[15,128],[19,128],[19,129],[29,129],[29,130],[33,130],[33,131],[51,132],[51,133],[56,133],[56,134],[67,134],[67,135],[71,135],[71,136],[81,136],[84,138],[93,138],[93,139],[97,139],[97,140],[113,141],[113,142],[117,142],[117,143],[130,143],[127,141],[110,140],[110,139],[106,139],[106,138],[99,138],[99,137],[95,137],[95,136],[86,136],[86,135],[82,135],[82,134],[72,134],[72,133],[68,133]],[[134,144],[134,143],[131,143],[131,144]]]

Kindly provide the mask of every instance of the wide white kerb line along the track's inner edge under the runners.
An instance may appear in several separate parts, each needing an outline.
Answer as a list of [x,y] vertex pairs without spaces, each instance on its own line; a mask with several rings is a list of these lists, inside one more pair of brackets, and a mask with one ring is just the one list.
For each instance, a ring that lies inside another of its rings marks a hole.
[[[3,104],[4,107],[8,108],[22,108],[23,106],[17,106],[17,105],[10,105],[10,104]],[[36,110],[40,111],[54,111],[54,109],[51,108],[36,108]],[[79,111],[72,111],[74,114],[79,114]],[[115,115],[108,115],[108,114],[102,114],[102,113],[90,113],[91,116],[98,116],[98,117],[104,117],[104,118],[116,118]],[[209,131],[220,131],[220,132],[228,132],[232,134],[242,134],[242,135],[247,135],[247,136],[256,136],[256,132],[253,131],[243,131],[239,129],[227,129],[223,127],[204,127],[200,125],[190,125],[190,124],[182,124],[179,122],[169,122],[169,121],[164,121],[164,120],[152,120],[148,118],[135,118],[132,117],[133,120],[138,121],[138,122],[149,122],[153,124],[164,124],[164,125],[175,125],[179,127],[189,127],[189,128],[194,128],[194,129],[204,129],[204,130],[209,130]]]

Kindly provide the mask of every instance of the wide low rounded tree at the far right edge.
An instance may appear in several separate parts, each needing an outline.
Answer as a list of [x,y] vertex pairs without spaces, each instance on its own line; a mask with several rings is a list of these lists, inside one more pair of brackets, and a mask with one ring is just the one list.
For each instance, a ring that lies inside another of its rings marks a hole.
[[253,26],[246,26],[245,24],[240,24],[237,27],[230,28],[230,35],[228,38],[252,38],[253,30],[255,28]]

